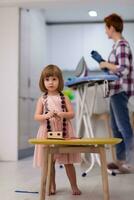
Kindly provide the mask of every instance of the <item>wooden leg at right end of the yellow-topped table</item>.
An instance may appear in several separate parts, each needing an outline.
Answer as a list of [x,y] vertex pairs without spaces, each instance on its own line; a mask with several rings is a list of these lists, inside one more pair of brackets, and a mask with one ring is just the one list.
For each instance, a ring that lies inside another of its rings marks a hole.
[[109,185],[105,147],[99,147],[104,200],[109,200]]

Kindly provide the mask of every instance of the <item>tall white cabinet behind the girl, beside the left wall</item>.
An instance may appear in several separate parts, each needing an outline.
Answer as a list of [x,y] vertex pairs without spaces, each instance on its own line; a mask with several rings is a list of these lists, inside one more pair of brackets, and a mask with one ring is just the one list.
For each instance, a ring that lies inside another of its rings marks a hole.
[[19,66],[19,158],[32,153],[34,146],[28,139],[35,137],[39,124],[34,121],[37,98],[40,96],[39,78],[46,62],[46,27],[44,14],[39,10],[20,12]]

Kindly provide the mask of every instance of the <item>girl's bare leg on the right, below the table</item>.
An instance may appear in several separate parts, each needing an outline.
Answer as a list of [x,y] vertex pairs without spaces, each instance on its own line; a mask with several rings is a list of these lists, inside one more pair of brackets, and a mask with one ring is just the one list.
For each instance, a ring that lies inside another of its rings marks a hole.
[[67,176],[69,178],[70,184],[71,184],[71,188],[73,191],[73,195],[80,195],[81,191],[79,190],[78,186],[77,186],[77,181],[76,181],[76,172],[75,172],[75,168],[73,164],[65,164],[65,169],[66,169],[66,173]]

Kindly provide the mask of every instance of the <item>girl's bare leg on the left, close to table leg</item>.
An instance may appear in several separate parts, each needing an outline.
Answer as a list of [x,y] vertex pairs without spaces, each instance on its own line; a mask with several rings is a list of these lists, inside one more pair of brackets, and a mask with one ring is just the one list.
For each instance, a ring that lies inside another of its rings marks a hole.
[[55,193],[56,193],[55,162],[52,162],[51,183],[50,183],[50,194],[55,194]]

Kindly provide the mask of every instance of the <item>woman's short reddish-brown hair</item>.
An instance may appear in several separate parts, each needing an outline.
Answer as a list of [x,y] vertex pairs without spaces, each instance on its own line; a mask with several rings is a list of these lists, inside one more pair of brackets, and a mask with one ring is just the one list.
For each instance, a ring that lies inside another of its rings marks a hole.
[[117,32],[122,33],[123,19],[119,15],[113,13],[113,14],[105,17],[104,22],[108,28],[113,26]]

